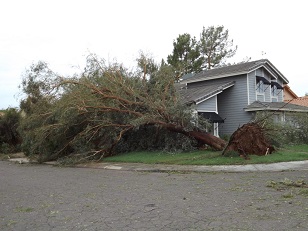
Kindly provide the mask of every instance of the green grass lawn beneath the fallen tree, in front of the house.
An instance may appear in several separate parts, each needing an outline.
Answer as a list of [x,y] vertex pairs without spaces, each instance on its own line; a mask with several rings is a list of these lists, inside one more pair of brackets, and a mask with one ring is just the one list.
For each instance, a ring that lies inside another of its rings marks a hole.
[[218,151],[193,151],[182,153],[167,152],[130,152],[103,159],[103,162],[127,162],[145,164],[179,164],[179,165],[232,165],[263,164],[285,161],[308,160],[308,144],[281,148],[267,156],[250,155],[250,160],[238,156],[222,156]]

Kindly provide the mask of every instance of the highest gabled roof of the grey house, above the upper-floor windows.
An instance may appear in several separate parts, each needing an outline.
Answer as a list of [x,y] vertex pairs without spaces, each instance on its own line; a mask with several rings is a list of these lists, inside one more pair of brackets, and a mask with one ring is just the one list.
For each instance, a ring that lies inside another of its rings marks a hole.
[[183,82],[192,83],[210,79],[230,77],[240,74],[248,74],[251,71],[254,71],[262,66],[265,67],[269,72],[274,72],[276,75],[280,76],[283,79],[284,83],[289,83],[287,78],[284,77],[284,75],[268,59],[260,59],[256,61],[205,70],[195,74],[190,78],[183,80]]

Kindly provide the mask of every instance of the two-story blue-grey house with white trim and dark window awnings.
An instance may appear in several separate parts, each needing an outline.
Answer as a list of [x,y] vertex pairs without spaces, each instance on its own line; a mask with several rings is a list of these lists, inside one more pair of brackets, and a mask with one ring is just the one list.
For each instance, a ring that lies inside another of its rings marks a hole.
[[181,82],[181,97],[212,122],[214,135],[230,135],[252,121],[257,111],[272,111],[284,120],[286,111],[307,107],[283,102],[288,79],[267,59],[197,73]]

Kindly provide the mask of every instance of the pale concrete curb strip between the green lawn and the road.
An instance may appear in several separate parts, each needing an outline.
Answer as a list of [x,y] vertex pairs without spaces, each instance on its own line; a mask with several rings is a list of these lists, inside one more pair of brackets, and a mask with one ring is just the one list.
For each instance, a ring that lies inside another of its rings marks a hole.
[[[27,158],[12,158],[9,161],[19,164],[31,163]],[[56,162],[45,164],[56,165]],[[140,164],[140,163],[87,163],[74,167],[99,168],[121,171],[148,171],[148,172],[281,172],[287,170],[308,170],[308,160],[280,162],[273,164],[247,164],[247,165],[164,165],[164,164]]]

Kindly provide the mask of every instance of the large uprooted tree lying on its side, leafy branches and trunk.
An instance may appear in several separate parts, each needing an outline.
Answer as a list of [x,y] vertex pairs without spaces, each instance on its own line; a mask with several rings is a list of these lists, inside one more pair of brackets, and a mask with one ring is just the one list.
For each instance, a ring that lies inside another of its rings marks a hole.
[[224,140],[196,126],[169,66],[161,65],[147,77],[119,64],[105,65],[95,55],[80,75],[70,78],[59,77],[46,64],[33,65],[21,86],[27,94],[21,102],[27,115],[20,129],[25,153],[42,161],[76,152],[107,156],[125,134],[147,126],[223,150]]

